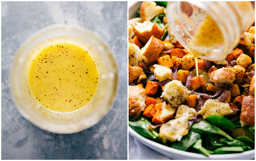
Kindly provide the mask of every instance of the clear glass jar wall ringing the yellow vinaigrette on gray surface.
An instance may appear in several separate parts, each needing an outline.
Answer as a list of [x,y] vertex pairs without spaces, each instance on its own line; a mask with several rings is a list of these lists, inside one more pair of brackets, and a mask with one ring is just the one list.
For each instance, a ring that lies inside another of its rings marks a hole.
[[[67,40],[84,47],[99,67],[99,90],[90,104],[71,113],[53,113],[40,106],[29,93],[28,65],[42,44]],[[100,121],[113,104],[118,88],[117,66],[106,44],[92,31],[81,26],[54,25],[36,32],[16,53],[10,71],[10,88],[20,114],[37,127],[59,134],[82,131]]]

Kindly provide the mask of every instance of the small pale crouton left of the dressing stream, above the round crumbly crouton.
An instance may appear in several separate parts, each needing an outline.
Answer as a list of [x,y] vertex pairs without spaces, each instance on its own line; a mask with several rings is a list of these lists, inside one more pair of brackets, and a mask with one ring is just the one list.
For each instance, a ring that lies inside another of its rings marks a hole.
[[157,80],[159,81],[164,81],[166,79],[173,80],[173,74],[170,68],[167,68],[163,65],[158,65],[158,64],[153,65],[153,67],[155,67],[154,74]]

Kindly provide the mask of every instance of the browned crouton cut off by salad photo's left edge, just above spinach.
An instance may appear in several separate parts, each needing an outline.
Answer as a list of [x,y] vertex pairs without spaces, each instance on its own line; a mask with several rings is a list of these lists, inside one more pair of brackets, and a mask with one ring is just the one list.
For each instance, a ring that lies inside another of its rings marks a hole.
[[137,85],[129,85],[129,116],[138,118],[146,104],[146,90]]

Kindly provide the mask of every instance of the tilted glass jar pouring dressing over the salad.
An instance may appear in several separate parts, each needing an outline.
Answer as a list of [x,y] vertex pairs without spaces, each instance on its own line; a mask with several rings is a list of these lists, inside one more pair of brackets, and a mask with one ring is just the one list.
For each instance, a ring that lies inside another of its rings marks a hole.
[[[203,35],[200,44],[193,43],[196,35],[202,32],[198,26],[206,15],[215,21],[222,39],[212,43],[212,37],[216,37],[212,32],[212,35]],[[225,59],[238,45],[240,36],[254,23],[254,17],[251,2],[168,2],[166,7],[170,32],[196,57],[209,61]]]

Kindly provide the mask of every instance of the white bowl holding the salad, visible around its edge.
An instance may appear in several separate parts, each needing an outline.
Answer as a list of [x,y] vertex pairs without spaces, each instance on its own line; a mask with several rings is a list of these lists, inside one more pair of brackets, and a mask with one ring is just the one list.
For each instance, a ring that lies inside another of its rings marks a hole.
[[[129,4],[129,19],[136,17],[136,11],[139,9],[141,3],[142,2]],[[242,153],[233,153],[233,154],[213,154],[207,157],[203,154],[182,151],[182,150],[164,146],[162,144],[156,143],[152,140],[149,140],[141,136],[136,131],[134,131],[131,127],[129,127],[128,129],[129,129],[129,134],[132,135],[135,139],[139,140],[141,143],[148,146],[149,148],[171,159],[254,159],[255,158],[255,150],[248,150]]]

